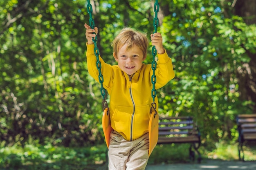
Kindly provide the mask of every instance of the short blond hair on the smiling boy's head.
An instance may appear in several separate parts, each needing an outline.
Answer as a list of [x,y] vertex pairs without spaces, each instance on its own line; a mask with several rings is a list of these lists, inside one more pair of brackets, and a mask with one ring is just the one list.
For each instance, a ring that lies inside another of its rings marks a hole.
[[143,57],[146,58],[148,49],[148,38],[146,37],[146,34],[131,28],[124,28],[112,42],[113,50],[116,55],[124,44],[127,44],[127,50],[131,49],[133,45],[138,46],[143,52]]

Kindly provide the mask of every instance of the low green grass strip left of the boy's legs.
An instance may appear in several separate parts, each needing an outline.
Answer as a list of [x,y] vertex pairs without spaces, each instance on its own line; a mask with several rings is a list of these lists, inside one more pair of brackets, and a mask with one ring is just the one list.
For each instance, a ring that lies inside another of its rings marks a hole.
[[56,170],[84,168],[106,162],[106,147],[64,148],[51,144],[0,149],[0,168],[9,170]]

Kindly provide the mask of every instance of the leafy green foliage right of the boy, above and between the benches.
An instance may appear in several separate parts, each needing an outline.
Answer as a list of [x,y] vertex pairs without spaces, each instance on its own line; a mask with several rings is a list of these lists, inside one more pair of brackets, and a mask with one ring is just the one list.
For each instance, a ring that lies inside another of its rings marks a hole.
[[255,60],[243,45],[255,43],[250,37],[255,25],[245,26],[238,16],[225,18],[221,1],[195,0],[192,6],[190,0],[177,0],[169,11],[172,15],[164,18],[161,32],[176,76],[160,92],[160,113],[192,115],[210,146],[209,141],[236,140],[235,116],[252,113],[254,107],[254,102],[240,100],[236,71]]

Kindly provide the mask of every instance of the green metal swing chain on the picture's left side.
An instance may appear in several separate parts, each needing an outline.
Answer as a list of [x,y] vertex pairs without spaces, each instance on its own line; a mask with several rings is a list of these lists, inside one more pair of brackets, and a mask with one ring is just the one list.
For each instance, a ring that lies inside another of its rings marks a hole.
[[[94,20],[92,18],[92,5],[90,4],[90,0],[87,0],[88,4],[87,4],[87,11],[90,15],[90,19],[89,19],[89,25],[92,29],[94,29],[95,25],[94,25]],[[96,33],[94,33],[96,34]],[[94,55],[96,56],[96,59],[97,59],[97,62],[96,62],[96,65],[97,65],[97,69],[99,71],[99,82],[101,84],[101,96],[103,98],[103,109],[106,108],[107,106],[107,102],[106,102],[106,93],[105,93],[105,88],[103,88],[103,82],[104,82],[104,79],[103,79],[103,75],[101,74],[101,62],[99,61],[99,49],[97,47],[97,35],[92,39],[92,41],[94,42]]]

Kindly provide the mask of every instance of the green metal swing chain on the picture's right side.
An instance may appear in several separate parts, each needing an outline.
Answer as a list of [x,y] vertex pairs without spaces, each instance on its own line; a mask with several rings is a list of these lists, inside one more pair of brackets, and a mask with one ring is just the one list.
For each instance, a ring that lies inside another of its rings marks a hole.
[[[155,0],[154,11],[155,11],[155,18],[154,18],[153,26],[154,26],[154,33],[156,33],[158,22],[159,22],[158,17],[157,17],[157,13],[159,12],[158,0]],[[155,56],[157,55],[157,50],[155,49],[155,46],[152,47],[152,55],[153,55],[153,60],[152,60],[151,67],[153,70],[153,75],[151,77],[151,82],[153,84],[153,87],[152,87],[151,95],[153,98],[153,103],[151,104],[152,107],[151,107],[150,112],[152,113],[152,109],[153,109],[153,110],[155,110],[155,114],[156,114],[157,111],[156,111],[155,97],[157,96],[157,94],[156,94],[156,90],[155,90],[155,83],[157,82],[157,77],[155,76],[155,70],[157,68],[157,62],[155,61]]]

